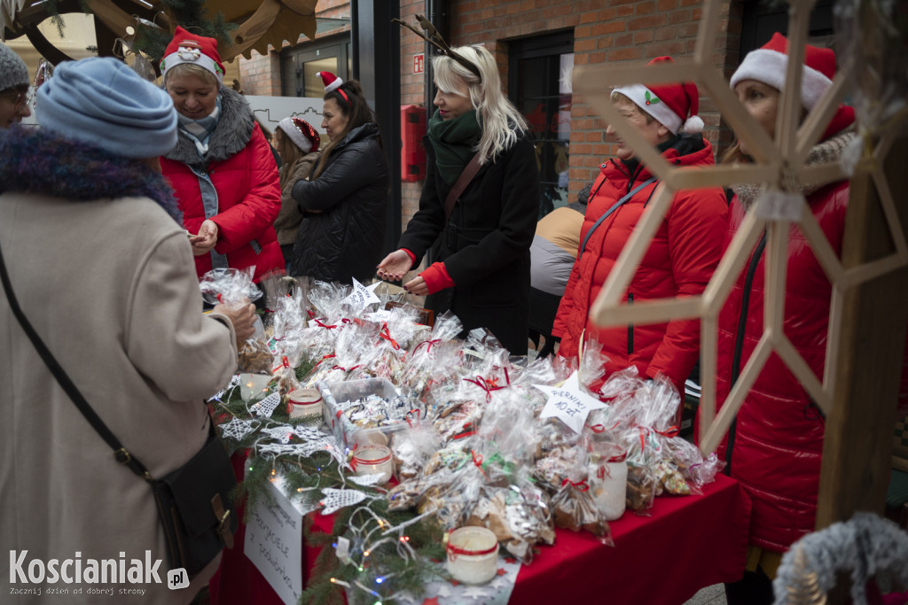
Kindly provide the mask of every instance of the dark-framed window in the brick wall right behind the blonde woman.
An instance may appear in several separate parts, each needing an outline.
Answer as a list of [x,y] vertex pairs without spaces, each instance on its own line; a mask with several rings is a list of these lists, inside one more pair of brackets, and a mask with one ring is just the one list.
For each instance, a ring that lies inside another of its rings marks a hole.
[[539,217],[568,200],[571,31],[523,38],[508,44],[508,96],[527,118],[539,167]]

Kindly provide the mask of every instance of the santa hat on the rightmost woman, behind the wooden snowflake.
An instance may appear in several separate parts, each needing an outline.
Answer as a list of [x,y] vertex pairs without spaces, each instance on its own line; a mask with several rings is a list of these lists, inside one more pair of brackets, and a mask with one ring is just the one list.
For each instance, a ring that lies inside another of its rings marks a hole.
[[[788,66],[788,40],[776,32],[762,47],[747,53],[741,66],[732,75],[731,87],[744,80],[756,80],[785,90],[785,69]],[[835,53],[829,48],[804,45],[804,71],[801,74],[801,104],[804,109],[814,109],[816,103],[835,77]],[[854,122],[854,109],[840,105],[826,128],[823,139],[835,134]]]

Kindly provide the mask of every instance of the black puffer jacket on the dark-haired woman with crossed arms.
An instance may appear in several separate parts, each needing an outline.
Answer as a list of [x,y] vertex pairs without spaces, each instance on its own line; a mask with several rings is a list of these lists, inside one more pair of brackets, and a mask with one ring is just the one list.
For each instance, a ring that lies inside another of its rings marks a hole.
[[331,150],[317,179],[293,185],[302,222],[291,275],[347,284],[374,277],[383,256],[389,188],[378,124],[354,128]]

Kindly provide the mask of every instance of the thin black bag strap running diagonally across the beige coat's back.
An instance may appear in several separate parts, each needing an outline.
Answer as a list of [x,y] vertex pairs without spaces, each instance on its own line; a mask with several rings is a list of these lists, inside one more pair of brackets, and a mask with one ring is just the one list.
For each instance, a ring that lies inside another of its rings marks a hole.
[[32,324],[28,321],[28,318],[25,317],[25,313],[22,312],[22,308],[19,307],[19,301],[15,298],[15,293],[13,292],[13,286],[9,281],[9,274],[6,272],[6,263],[3,259],[3,250],[0,249],[0,280],[3,281],[3,288],[6,292],[6,298],[9,299],[9,307],[13,310],[13,315],[19,320],[19,324],[22,325],[22,329],[25,331],[25,334],[32,341],[32,344],[35,345],[35,349],[38,351],[38,355],[44,360],[44,364],[47,366],[47,369],[51,371],[51,374],[54,375],[56,381],[60,383],[60,386],[63,387],[63,390],[66,392],[66,395],[69,395],[70,399],[73,400],[73,403],[79,411],[84,415],[85,420],[88,421],[88,424],[92,425],[95,431],[101,435],[101,438],[110,445],[111,449],[114,450],[114,458],[120,464],[125,464],[129,467],[133,473],[142,477],[145,481],[153,481],[152,475],[148,473],[148,469],[145,468],[144,464],[139,462],[139,460],[133,457],[133,454],[130,454],[123,444],[116,438],[114,433],[111,432],[107,425],[104,424],[104,421],[101,420],[100,416],[95,414],[94,409],[91,405],[85,401],[82,393],[79,392],[79,389],[76,388],[73,381],[67,376],[66,372],[63,369],[63,366],[57,362],[54,358],[54,355],[51,354],[47,346],[44,345],[44,341],[41,337],[38,336],[38,333],[35,332],[35,328],[32,327]]

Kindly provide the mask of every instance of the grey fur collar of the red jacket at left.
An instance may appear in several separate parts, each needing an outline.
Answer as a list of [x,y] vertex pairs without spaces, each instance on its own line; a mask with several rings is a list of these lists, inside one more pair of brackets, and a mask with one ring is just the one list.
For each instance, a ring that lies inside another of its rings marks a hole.
[[252,109],[242,94],[232,88],[222,86],[218,97],[221,99],[221,118],[208,141],[205,157],[200,158],[195,143],[184,132],[177,131],[180,137],[176,147],[165,158],[193,167],[204,167],[212,162],[227,160],[242,151],[252,138],[252,129],[255,127]]

